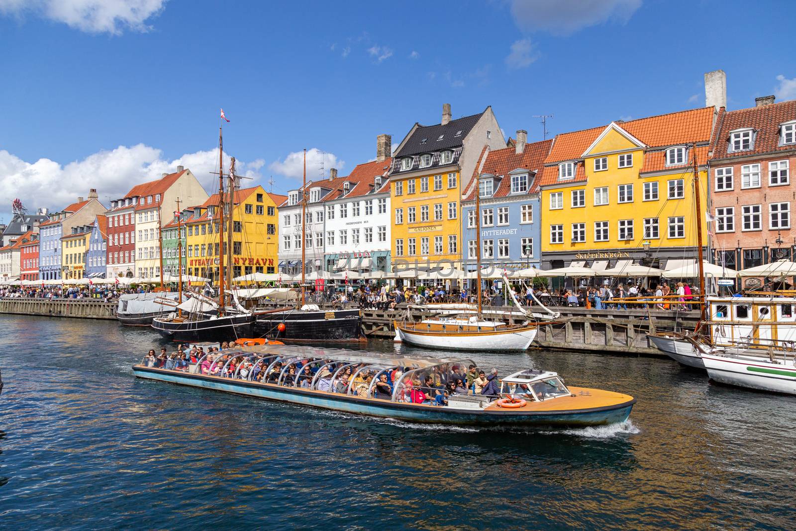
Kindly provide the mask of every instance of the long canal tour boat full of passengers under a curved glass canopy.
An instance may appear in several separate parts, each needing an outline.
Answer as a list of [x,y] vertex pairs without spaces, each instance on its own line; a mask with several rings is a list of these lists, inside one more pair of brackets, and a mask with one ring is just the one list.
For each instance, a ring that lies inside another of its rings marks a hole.
[[[217,355],[212,364],[211,355]],[[132,369],[139,378],[326,410],[486,428],[622,423],[635,403],[632,396],[568,386],[556,373],[533,369],[502,378],[496,396],[454,393],[446,396],[447,404],[445,400],[422,400],[426,392],[436,394],[434,388],[419,387],[427,376],[463,376],[470,365],[474,362],[458,357],[389,357],[308,346],[244,346],[205,355],[187,369],[147,366],[146,358]],[[253,377],[255,366],[263,367],[263,381]],[[350,383],[342,377],[346,369],[351,369]],[[382,374],[395,381],[377,388]]]

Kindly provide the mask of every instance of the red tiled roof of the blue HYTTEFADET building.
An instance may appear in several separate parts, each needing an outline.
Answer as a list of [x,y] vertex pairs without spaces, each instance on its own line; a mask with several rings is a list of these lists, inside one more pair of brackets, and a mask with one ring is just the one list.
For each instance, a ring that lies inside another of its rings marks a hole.
[[[486,160],[481,164],[478,161],[475,171],[478,172],[478,167],[481,167],[480,174],[493,174],[502,177],[497,189],[494,190],[492,197],[506,197],[511,191],[511,178],[509,172],[519,168],[530,170],[532,173],[537,172],[537,178],[531,175],[531,185],[528,193],[537,193],[539,191],[538,176],[544,167],[544,158],[550,152],[552,139],[544,140],[542,142],[535,142],[525,144],[525,150],[517,154],[517,150],[513,147],[507,147],[502,150],[492,150],[486,154]],[[483,156],[483,152],[482,152]],[[469,193],[467,193],[465,201],[474,201],[476,187],[471,186]]]

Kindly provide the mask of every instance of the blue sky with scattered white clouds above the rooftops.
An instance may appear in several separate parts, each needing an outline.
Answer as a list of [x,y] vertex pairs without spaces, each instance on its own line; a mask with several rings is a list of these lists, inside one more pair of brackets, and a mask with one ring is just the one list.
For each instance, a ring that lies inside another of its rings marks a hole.
[[[219,110],[239,174],[277,193],[492,106],[505,137],[796,98],[796,2],[0,0],[0,219],[123,197],[176,166],[209,192]],[[781,30],[777,30],[781,28]]]

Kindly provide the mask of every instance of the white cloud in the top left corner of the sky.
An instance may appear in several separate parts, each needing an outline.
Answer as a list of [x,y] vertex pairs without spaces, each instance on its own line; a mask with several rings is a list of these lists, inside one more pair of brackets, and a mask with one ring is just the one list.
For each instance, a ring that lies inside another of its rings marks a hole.
[[0,0],[0,14],[25,14],[61,22],[86,33],[120,35],[125,29],[148,31],[146,24],[166,0]]

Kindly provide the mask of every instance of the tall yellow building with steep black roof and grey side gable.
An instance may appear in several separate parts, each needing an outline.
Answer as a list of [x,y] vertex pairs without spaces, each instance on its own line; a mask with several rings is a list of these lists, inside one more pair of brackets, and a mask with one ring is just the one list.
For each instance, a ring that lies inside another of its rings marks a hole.
[[486,146],[505,148],[491,107],[451,120],[445,104],[442,123],[412,127],[390,170],[393,269],[462,267],[462,193]]

